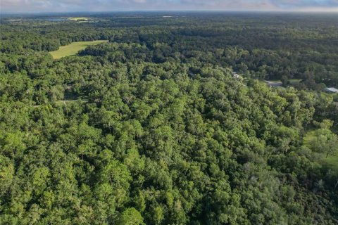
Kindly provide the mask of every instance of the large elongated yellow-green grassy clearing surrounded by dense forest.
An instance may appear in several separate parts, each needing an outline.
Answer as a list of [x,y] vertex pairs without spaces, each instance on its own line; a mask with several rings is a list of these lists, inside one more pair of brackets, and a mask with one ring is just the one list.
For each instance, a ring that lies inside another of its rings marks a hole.
[[50,51],[51,56],[54,59],[59,59],[65,56],[73,56],[76,55],[77,52],[80,50],[85,49],[89,45],[101,44],[107,41],[99,40],[99,41],[80,41],[80,42],[73,42],[72,44],[68,44],[66,46],[61,46],[56,51]]

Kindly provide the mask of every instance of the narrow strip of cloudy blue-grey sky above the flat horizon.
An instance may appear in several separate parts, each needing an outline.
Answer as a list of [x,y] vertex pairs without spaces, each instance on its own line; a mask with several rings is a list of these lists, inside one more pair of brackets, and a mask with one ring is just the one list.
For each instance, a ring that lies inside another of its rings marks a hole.
[[338,0],[0,0],[1,13],[75,11],[338,11]]

